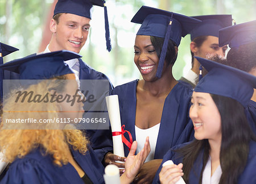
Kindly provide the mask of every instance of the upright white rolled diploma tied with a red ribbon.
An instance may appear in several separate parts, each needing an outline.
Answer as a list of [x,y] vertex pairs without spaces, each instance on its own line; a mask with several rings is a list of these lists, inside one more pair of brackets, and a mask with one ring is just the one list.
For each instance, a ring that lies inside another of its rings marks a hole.
[[[118,95],[110,95],[106,97],[106,104],[109,111],[109,120],[112,132],[122,132],[121,118],[119,111]],[[114,154],[124,157],[122,135],[113,136],[113,149]]]

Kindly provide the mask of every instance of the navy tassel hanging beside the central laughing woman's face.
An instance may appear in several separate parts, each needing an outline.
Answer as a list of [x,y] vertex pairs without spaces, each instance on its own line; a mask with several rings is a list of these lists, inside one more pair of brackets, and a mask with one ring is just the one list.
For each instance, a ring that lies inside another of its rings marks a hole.
[[170,19],[170,23],[167,27],[166,36],[164,36],[164,43],[163,43],[161,55],[159,58],[158,70],[156,72],[156,77],[158,77],[158,78],[160,78],[162,76],[164,60],[166,58],[167,47],[168,47],[168,43],[169,43],[169,39],[170,39],[170,35],[171,35],[171,28],[172,28],[172,16]]

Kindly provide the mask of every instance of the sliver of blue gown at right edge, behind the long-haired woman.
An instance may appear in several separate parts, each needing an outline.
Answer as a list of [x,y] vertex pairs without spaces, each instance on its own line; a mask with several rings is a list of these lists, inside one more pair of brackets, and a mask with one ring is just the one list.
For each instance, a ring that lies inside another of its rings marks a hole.
[[245,114],[247,116],[251,129],[256,135],[256,102],[250,101],[248,106],[245,108]]

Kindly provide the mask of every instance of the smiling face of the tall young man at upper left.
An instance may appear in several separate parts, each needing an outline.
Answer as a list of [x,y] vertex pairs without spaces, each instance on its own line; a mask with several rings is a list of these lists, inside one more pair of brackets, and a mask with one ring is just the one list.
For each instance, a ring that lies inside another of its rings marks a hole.
[[53,33],[49,50],[68,50],[79,53],[88,36],[90,19],[75,14],[62,14],[59,23],[52,19],[50,29]]

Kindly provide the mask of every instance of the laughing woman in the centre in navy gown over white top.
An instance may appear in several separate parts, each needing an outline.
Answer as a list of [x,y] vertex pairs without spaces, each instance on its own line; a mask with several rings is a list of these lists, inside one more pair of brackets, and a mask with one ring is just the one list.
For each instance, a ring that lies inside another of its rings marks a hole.
[[[135,38],[134,62],[143,80],[117,86],[112,94],[118,95],[122,124],[138,141],[137,152],[143,148],[144,138],[150,136],[151,152],[136,182],[151,183],[167,150],[192,138],[188,118],[192,91],[175,80],[172,66],[181,36],[200,21],[142,6],[131,22],[142,24]],[[129,148],[124,145],[124,149],[127,156]],[[108,154],[105,164],[113,162],[111,158],[113,155]]]

